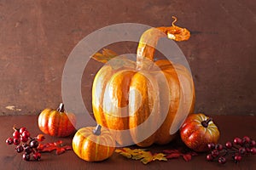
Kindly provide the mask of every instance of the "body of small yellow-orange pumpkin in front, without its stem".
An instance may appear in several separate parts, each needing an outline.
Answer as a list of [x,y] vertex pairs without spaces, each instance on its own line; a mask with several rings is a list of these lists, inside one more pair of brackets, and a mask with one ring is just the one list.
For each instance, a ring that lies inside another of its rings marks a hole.
[[85,161],[103,161],[113,155],[115,141],[106,128],[100,134],[95,127],[82,127],[73,137],[73,151]]

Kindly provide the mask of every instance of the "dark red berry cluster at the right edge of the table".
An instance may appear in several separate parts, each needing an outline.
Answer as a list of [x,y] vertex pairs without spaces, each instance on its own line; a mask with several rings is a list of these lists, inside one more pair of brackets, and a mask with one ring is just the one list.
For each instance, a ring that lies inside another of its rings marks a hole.
[[207,144],[211,153],[207,155],[207,161],[217,160],[221,164],[227,161],[227,156],[231,156],[237,163],[241,161],[242,156],[255,155],[256,154],[256,142],[253,139],[245,136],[241,138],[235,138],[233,142],[226,142],[222,144]]

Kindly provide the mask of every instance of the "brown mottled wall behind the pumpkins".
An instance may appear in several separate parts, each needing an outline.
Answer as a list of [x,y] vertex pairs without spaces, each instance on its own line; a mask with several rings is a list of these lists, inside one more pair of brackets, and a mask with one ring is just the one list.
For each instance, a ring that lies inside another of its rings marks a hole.
[[[0,114],[56,107],[68,54],[92,31],[123,22],[170,26],[172,15],[193,33],[177,44],[193,73],[195,111],[255,115],[254,0],[0,0]],[[136,47],[113,49],[135,53]],[[90,93],[101,66],[91,65],[82,94]],[[91,111],[90,95],[84,102]]]

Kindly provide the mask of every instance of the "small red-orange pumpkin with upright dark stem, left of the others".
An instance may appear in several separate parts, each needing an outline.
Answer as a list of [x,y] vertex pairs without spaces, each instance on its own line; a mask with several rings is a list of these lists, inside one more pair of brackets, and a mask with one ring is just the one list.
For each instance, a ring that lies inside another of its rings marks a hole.
[[50,136],[67,137],[75,131],[76,116],[61,104],[57,110],[45,109],[38,116],[39,129]]

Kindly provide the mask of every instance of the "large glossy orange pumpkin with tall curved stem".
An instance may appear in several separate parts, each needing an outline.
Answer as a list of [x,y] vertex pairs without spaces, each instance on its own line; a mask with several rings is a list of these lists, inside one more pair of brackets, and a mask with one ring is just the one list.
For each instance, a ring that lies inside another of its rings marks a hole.
[[[175,36],[173,29],[145,31],[137,62],[121,59],[125,64],[116,66],[111,65],[113,59],[96,74],[92,87],[96,122],[113,130],[120,145],[167,144],[194,109],[194,82],[186,67],[168,59],[154,62],[156,43],[160,37]],[[189,36],[189,31],[183,32]]]

